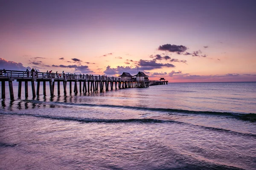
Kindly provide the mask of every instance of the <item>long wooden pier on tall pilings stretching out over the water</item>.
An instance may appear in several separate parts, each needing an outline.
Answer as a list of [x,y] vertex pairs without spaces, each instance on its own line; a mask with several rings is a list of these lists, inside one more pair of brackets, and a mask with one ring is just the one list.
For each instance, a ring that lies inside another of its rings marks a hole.
[[[151,85],[163,85],[168,81],[148,80],[137,81],[136,78],[120,78],[120,77],[107,77],[107,76],[92,76],[92,75],[76,75],[76,74],[55,74],[55,73],[43,73],[43,72],[26,72],[26,71],[12,71],[12,70],[0,70],[1,92],[2,99],[5,99],[6,94],[6,82],[9,82],[10,99],[14,99],[13,81],[18,82],[18,97],[21,97],[21,89],[24,82],[25,98],[28,98],[28,83],[31,83],[32,96],[39,95],[40,84],[43,82],[43,94],[46,95],[46,82],[49,82],[49,92],[51,96],[54,96],[55,82],[57,84],[57,94],[60,95],[61,82],[63,85],[64,95],[67,94],[67,82],[69,82],[69,93],[75,94],[90,93],[100,91],[103,92],[111,90],[113,88],[144,88]],[[37,82],[37,88],[35,91],[35,82]],[[72,88],[72,82],[74,82],[74,88]],[[79,89],[78,89],[79,84]],[[105,87],[105,88],[104,88]]]

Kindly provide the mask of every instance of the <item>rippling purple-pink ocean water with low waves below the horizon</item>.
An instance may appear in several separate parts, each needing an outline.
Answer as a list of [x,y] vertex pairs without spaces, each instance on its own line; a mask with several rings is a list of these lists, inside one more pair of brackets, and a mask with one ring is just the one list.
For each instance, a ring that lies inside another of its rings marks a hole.
[[14,85],[10,101],[6,85],[1,170],[256,169],[256,82],[47,90],[19,99]]

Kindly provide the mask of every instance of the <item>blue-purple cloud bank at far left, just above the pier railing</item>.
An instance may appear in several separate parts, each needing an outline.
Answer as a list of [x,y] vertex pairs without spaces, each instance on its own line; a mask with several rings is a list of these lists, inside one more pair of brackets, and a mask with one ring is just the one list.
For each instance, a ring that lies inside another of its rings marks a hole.
[[[14,61],[8,61],[3,58],[0,58],[0,68],[1,69],[4,68],[6,70],[15,70],[15,71],[26,71],[26,69],[29,69],[29,71],[31,70],[31,67],[24,67],[21,62],[17,63]],[[35,69],[37,69],[37,68],[35,68]]]

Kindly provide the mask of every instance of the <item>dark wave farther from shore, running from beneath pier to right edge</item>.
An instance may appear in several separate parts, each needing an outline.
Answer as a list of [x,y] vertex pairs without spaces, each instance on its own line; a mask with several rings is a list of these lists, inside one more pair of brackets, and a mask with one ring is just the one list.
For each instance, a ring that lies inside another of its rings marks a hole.
[[146,108],[138,106],[122,106],[122,105],[96,105],[96,104],[87,104],[87,103],[68,103],[68,102],[41,102],[38,100],[24,100],[26,102],[32,103],[45,103],[49,105],[64,105],[64,106],[87,106],[87,107],[102,107],[102,108],[121,108],[121,109],[130,109],[130,110],[139,110],[139,111],[160,111],[160,112],[171,112],[171,113],[188,113],[188,114],[210,114],[218,116],[233,116],[240,119],[250,119],[256,121],[255,113],[232,113],[232,112],[215,112],[215,111],[189,111],[182,109],[170,109],[170,108]]

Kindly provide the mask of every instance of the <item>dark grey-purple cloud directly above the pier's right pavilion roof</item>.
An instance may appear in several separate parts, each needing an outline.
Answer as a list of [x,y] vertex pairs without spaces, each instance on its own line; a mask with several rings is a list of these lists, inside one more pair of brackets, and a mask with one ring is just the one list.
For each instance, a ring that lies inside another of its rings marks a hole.
[[163,67],[175,67],[173,64],[163,64],[163,63],[157,63],[156,60],[143,60],[140,59],[139,65],[141,66],[142,70],[153,70],[155,68],[163,68]]

